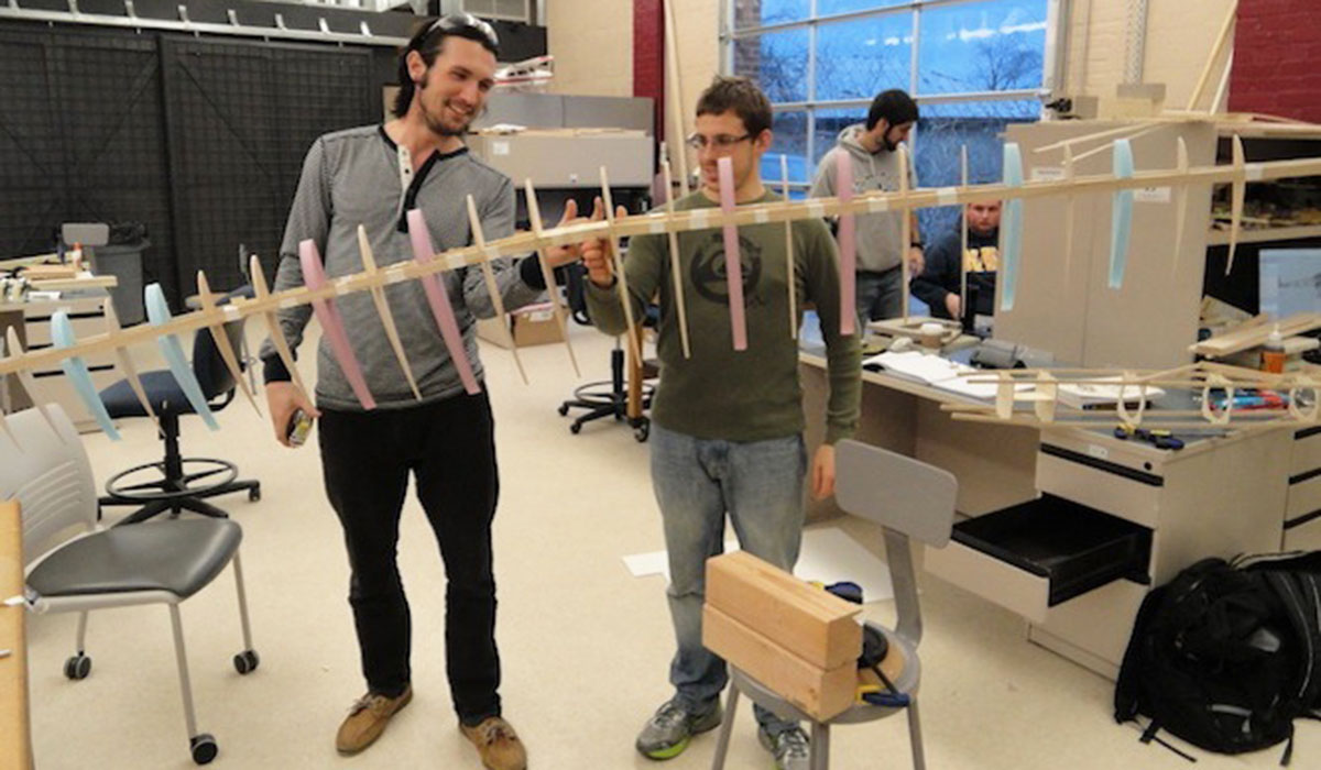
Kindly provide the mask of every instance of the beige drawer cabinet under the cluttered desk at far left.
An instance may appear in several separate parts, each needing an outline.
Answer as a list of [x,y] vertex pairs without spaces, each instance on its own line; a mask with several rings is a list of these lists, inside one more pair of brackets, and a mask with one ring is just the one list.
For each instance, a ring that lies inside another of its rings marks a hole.
[[[106,333],[106,302],[110,301],[110,295],[104,291],[85,292],[81,296],[71,296],[69,298],[59,300],[41,300],[34,302],[26,302],[22,310],[24,325],[26,328],[26,346],[28,350],[41,350],[44,347],[50,347],[50,317],[57,310],[65,310],[69,313],[69,321],[73,324],[74,334],[79,339],[92,337],[96,334]],[[87,370],[91,372],[91,382],[96,390],[110,387],[116,380],[122,379],[119,372],[119,366],[115,362],[114,353],[98,353],[89,355],[83,359],[87,363]],[[37,383],[38,392],[36,398],[40,398],[46,403],[59,404],[69,419],[73,420],[74,427],[82,433],[89,433],[99,431],[100,427],[96,420],[83,405],[82,399],[74,391],[73,384],[65,376],[61,367],[55,366],[53,368],[34,371],[33,379]],[[17,404],[16,404],[17,405]]]

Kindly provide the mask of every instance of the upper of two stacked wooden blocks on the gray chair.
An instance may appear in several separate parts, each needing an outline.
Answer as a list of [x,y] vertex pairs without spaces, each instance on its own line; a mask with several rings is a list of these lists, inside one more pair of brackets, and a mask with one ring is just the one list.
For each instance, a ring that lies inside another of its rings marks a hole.
[[863,650],[863,608],[745,551],[707,561],[707,604],[818,668],[852,664]]

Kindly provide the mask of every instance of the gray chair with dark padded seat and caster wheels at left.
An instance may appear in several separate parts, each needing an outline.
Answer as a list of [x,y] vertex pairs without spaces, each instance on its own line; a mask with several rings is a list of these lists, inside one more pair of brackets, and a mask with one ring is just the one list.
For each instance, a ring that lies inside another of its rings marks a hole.
[[7,417],[17,446],[0,435],[0,499],[17,498],[22,508],[29,609],[79,613],[78,652],[65,663],[65,676],[79,680],[91,671],[83,651],[89,610],[169,605],[189,748],[193,761],[205,765],[218,748],[214,737],[197,730],[178,604],[232,563],[243,626],[243,652],[234,656],[234,666],[239,674],[258,667],[239,563],[243,531],[229,519],[207,518],[99,528],[82,441],[58,405],[48,405],[46,413],[54,429],[38,409]]

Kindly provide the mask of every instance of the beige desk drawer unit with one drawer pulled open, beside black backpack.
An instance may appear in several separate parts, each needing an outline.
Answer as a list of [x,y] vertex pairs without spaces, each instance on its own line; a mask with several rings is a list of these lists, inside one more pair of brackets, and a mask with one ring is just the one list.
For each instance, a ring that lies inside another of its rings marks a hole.
[[1029,622],[1028,637],[1114,679],[1148,585],[1207,556],[1275,551],[1293,431],[1173,452],[1081,429],[1041,432],[1030,503],[955,526],[926,571]]

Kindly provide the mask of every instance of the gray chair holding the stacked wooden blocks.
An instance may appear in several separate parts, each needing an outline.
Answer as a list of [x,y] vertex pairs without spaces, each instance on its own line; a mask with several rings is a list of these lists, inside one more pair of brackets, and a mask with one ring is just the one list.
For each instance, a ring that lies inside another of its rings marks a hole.
[[909,539],[935,548],[950,542],[954,527],[954,499],[958,482],[954,475],[925,462],[888,452],[857,441],[840,441],[835,448],[835,499],[839,507],[855,516],[881,524],[885,535],[885,555],[890,582],[894,585],[894,606],[898,622],[885,629],[868,621],[889,641],[890,648],[904,652],[905,666],[894,680],[894,688],[909,697],[908,707],[853,705],[844,713],[820,722],[807,716],[787,700],[738,668],[729,670],[729,699],[720,740],[716,744],[713,770],[725,766],[729,733],[738,695],[745,693],[753,703],[778,713],[783,718],[811,724],[812,770],[830,767],[830,730],[834,725],[869,722],[908,712],[909,740],[913,745],[913,766],[926,767],[922,752],[922,726],[918,718],[917,691],[922,666],[917,645],[922,639],[922,610],[917,600],[917,577]]

